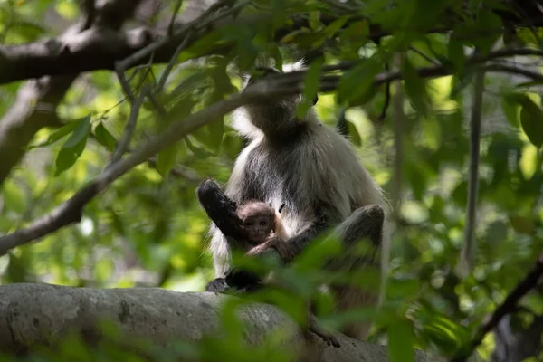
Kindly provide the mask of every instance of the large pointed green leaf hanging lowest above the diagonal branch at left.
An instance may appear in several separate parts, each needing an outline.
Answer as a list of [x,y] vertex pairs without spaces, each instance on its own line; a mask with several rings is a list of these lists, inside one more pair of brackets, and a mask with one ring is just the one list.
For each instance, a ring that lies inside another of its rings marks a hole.
[[90,115],[78,121],[76,128],[70,138],[62,145],[61,152],[55,160],[56,171],[54,176],[59,176],[72,167],[75,161],[81,156],[87,144],[90,134]]

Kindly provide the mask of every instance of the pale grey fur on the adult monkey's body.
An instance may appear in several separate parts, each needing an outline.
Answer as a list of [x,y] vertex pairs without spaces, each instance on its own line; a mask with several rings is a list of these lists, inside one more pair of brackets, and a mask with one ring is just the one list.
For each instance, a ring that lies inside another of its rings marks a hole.
[[[283,71],[301,67],[298,62],[283,67]],[[339,234],[362,233],[366,229],[355,225],[360,213],[372,209],[358,209],[380,205],[379,209],[388,213],[382,190],[362,166],[348,140],[321,124],[313,109],[304,119],[295,118],[300,100],[297,95],[233,112],[233,127],[249,138],[250,143],[236,159],[225,194],[238,204],[255,198],[276,210],[284,203],[281,220],[289,237],[307,232],[319,223],[337,226]],[[382,233],[378,235],[383,246],[389,243],[389,230],[385,218]],[[224,278],[230,264],[228,243],[214,225],[210,232],[215,274]],[[300,242],[300,248],[304,246]],[[386,263],[382,266],[386,267]],[[341,298],[348,299],[338,302],[342,309],[376,302],[376,298],[362,296],[352,289],[341,293],[344,295]],[[349,329],[348,333],[354,338],[364,338],[367,326]]]

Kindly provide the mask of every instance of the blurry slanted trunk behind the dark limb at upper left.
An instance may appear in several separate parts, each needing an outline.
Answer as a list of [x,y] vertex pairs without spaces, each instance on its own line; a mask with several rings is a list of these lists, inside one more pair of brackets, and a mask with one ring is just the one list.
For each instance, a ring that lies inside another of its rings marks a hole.
[[[87,14],[81,24],[76,24],[62,34],[60,39],[79,39],[84,38],[86,33],[97,33],[94,25],[90,25],[89,19],[101,19],[102,33],[116,33],[122,21],[126,17],[131,16],[136,10],[141,0],[113,0],[110,2],[101,2],[99,7],[86,4],[87,10],[90,9],[92,14]],[[106,14],[111,13],[111,14]],[[111,24],[103,24],[104,19],[113,18]],[[98,20],[96,20],[98,21]],[[90,28],[86,28],[91,26]],[[86,30],[85,30],[86,29]],[[82,33],[81,33],[82,32]],[[99,33],[100,33],[99,32]],[[83,35],[81,35],[83,34]],[[47,72],[37,71],[40,62],[26,62],[28,55],[25,52],[27,48],[37,48],[37,52],[58,52],[66,54],[71,52],[71,48],[63,47],[63,43],[43,42],[38,45],[29,44],[21,46],[0,47],[0,80],[4,74],[11,71],[20,71],[21,67],[29,66],[29,71],[33,72],[33,76],[26,78],[39,78]],[[91,47],[92,48],[92,47]],[[7,53],[5,52],[6,49]],[[10,61],[9,53],[16,55]],[[62,55],[63,56],[63,55]],[[52,59],[54,62],[54,59]],[[37,67],[37,68],[36,68]],[[35,69],[34,69],[35,68]],[[48,127],[58,124],[56,108],[64,98],[64,94],[71,87],[71,83],[76,79],[78,72],[65,72],[62,77],[43,77],[36,80],[27,81],[17,92],[17,98],[14,106],[8,110],[4,117],[0,119],[0,155],[2,162],[0,163],[0,185],[9,175],[12,168],[21,160],[25,153],[25,147],[33,138],[35,133]]]

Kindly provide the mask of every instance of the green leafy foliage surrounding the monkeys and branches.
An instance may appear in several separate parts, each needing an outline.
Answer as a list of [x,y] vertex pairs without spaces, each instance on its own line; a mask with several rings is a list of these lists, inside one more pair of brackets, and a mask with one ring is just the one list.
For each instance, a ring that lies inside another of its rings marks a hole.
[[[165,90],[155,95],[159,107],[150,101],[142,107],[131,144],[140,145],[172,122],[232,95],[241,84],[235,70],[250,71],[259,57],[271,58],[281,68],[282,62],[299,55],[289,46],[302,53],[321,52],[317,61],[308,64],[303,86],[306,100],[317,94],[324,65],[356,61],[342,73],[337,92],[319,93],[316,110],[333,126],[340,108],[348,107],[349,138],[368,171],[388,192],[401,186],[402,204],[397,210],[401,223],[394,238],[386,306],[334,313],[333,296],[315,291],[320,282],[332,277],[365,285],[376,279],[371,273],[320,271],[321,256],[334,252],[333,243],[316,244],[297,265],[276,270],[281,280],[288,281],[286,286],[249,300],[272,301],[302,324],[308,300],[318,301],[319,318],[333,328],[348,320],[370,319],[376,323],[371,340],[387,344],[391,361],[407,361],[412,360],[413,348],[452,356],[543,250],[543,117],[537,82],[519,83],[507,75],[504,86],[500,76],[487,75],[477,260],[472,274],[460,279],[455,267],[467,205],[469,90],[477,71],[467,54],[475,48],[481,54],[491,52],[505,36],[502,22],[493,11],[498,5],[491,1],[396,3],[258,0],[244,6],[241,14],[250,20],[211,28],[179,54],[176,63],[208,57],[205,62],[174,68]],[[451,11],[462,22],[451,24],[447,20],[452,19]],[[59,30],[45,20],[35,23],[44,14],[72,22],[79,9],[66,0],[0,2],[0,41],[28,43],[57,35]],[[325,21],[325,15],[333,15],[334,20]],[[292,19],[299,17],[307,21],[306,26],[293,28]],[[452,33],[430,33],[443,26]],[[379,43],[371,36],[375,28],[387,34]],[[279,29],[282,33],[277,38]],[[540,46],[533,33],[519,31],[516,36],[527,47]],[[402,156],[399,168],[395,167],[397,130],[391,110],[384,121],[376,116],[388,104],[386,87],[374,83],[398,52],[406,96],[401,100],[405,119],[399,134],[403,148],[397,150]],[[418,72],[436,63],[451,75],[427,80]],[[146,84],[155,86],[165,69],[166,65],[155,64],[129,71],[131,89],[138,93]],[[126,127],[129,102],[111,72],[94,71],[86,81],[72,86],[62,103],[59,113],[64,125],[42,129],[28,147],[23,166],[2,184],[0,233],[14,232],[49,213],[108,164]],[[0,90],[0,113],[14,102],[18,85]],[[309,107],[309,102],[304,103],[300,115]],[[209,221],[197,205],[195,186],[207,176],[224,183],[242,146],[227,117],[214,119],[121,177],[85,207],[81,224],[0,258],[0,280],[203,290],[213,271],[204,243]],[[273,261],[265,265],[243,258],[235,261],[259,272],[277,268]],[[541,294],[522,300],[522,306],[541,313]],[[235,307],[224,309],[222,320],[228,333],[222,338],[205,338],[199,344],[180,342],[167,352],[157,351],[161,360],[173,360],[177,353],[201,360],[217,356],[291,360],[291,351],[280,353],[273,348],[273,338],[259,348],[246,346],[243,329],[234,318]],[[526,326],[532,317],[516,313],[513,320]],[[492,348],[489,337],[478,348],[478,358],[488,359]],[[100,360],[140,359],[118,349],[102,346],[90,352],[81,342],[69,339],[51,360],[94,360],[94,353]]]

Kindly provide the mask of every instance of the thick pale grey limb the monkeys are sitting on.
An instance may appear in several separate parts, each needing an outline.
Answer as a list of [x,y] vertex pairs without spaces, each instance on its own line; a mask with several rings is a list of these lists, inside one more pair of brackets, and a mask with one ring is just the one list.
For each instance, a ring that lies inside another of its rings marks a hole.
[[[93,290],[50,284],[0,286],[0,351],[22,354],[39,344],[54,346],[70,331],[94,344],[105,337],[98,329],[107,319],[123,340],[139,338],[162,348],[180,340],[197,342],[220,330],[219,313],[227,297],[210,292],[175,292],[155,288]],[[284,330],[277,348],[291,349],[300,361],[386,362],[386,347],[338,334],[341,348],[327,347],[320,338],[303,333],[281,310],[266,304],[243,306],[246,343],[257,345],[273,330]],[[138,352],[138,346],[132,346]],[[426,361],[415,351],[415,361]]]

